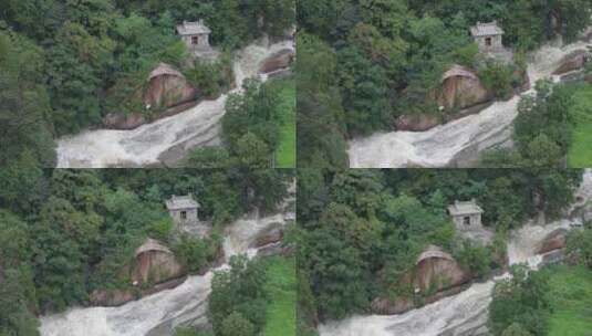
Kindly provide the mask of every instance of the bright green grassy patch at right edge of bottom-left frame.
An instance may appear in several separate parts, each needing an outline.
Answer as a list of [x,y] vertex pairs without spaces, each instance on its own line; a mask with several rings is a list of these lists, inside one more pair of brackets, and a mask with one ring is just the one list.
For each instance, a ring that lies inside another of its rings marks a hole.
[[264,336],[295,336],[297,280],[294,258],[271,256],[264,291],[270,297]]

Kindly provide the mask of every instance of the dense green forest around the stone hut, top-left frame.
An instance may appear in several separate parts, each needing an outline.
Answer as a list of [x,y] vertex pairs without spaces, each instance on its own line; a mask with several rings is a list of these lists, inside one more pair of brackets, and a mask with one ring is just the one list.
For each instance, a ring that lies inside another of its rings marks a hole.
[[159,62],[186,69],[177,23],[202,19],[211,28],[220,63],[193,64],[186,75],[216,96],[231,84],[222,71],[230,53],[283,35],[293,18],[291,0],[2,1],[0,165],[52,167],[52,138],[136,107],[132,93]]

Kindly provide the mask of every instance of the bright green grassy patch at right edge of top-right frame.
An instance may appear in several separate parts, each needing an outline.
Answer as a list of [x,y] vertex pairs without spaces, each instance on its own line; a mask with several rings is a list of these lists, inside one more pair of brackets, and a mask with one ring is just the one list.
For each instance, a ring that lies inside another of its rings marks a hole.
[[571,168],[592,167],[592,85],[580,85],[573,99],[574,105],[569,112],[573,135],[568,165]]

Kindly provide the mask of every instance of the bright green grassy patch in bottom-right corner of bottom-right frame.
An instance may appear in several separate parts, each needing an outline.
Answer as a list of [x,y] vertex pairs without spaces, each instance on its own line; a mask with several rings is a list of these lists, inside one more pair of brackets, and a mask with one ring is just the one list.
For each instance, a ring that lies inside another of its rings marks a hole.
[[549,336],[592,335],[592,271],[584,266],[552,266],[549,300],[552,313]]

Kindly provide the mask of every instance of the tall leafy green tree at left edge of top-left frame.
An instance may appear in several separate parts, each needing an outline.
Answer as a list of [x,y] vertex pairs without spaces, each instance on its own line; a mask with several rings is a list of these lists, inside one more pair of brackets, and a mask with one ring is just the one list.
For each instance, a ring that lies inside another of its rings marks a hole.
[[11,168],[23,162],[33,166],[55,164],[50,103],[40,75],[43,66],[41,48],[10,30],[0,31],[2,167],[7,167],[9,162],[13,162]]

